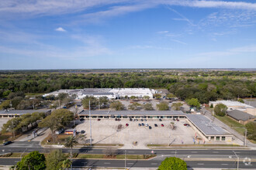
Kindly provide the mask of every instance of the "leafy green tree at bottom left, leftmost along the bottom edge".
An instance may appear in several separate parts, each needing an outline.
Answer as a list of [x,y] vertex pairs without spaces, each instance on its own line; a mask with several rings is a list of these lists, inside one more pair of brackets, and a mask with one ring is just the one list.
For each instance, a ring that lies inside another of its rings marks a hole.
[[24,156],[16,165],[17,170],[43,170],[45,168],[45,157],[39,151],[30,152],[29,155]]

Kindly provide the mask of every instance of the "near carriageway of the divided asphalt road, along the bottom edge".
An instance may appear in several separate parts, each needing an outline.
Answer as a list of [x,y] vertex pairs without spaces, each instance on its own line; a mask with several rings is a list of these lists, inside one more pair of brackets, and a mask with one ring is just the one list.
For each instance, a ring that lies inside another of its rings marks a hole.
[[[19,162],[19,158],[1,158],[0,165],[15,165]],[[237,162],[214,162],[214,161],[186,161],[188,168],[237,168]],[[88,160],[88,159],[75,159],[73,167],[124,167],[124,160]],[[126,168],[132,167],[158,167],[161,161],[126,161]],[[239,168],[255,169],[255,162],[251,164],[244,164],[239,162]]]

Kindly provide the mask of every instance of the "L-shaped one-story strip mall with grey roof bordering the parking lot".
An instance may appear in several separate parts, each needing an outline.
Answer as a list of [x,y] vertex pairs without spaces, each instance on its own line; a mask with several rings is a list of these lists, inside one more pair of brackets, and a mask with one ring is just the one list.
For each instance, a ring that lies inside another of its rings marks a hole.
[[[82,110],[78,116],[80,118],[89,118],[89,110]],[[191,127],[200,134],[205,141],[232,141],[233,135],[223,128],[216,126],[207,117],[201,114],[184,114],[180,110],[91,110],[92,119],[130,119],[130,118],[144,118],[148,121],[154,119],[163,120],[186,120]]]

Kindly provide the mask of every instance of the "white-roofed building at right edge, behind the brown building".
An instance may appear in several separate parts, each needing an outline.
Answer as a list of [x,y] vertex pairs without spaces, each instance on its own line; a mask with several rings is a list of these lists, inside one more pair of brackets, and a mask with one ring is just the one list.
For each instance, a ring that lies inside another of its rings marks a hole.
[[250,106],[248,104],[243,104],[238,101],[230,101],[230,100],[216,100],[216,101],[209,101],[209,106],[213,104],[213,107],[216,106],[216,104],[224,104],[227,106],[227,110],[240,110],[244,111],[247,114],[251,114],[256,116],[256,108],[253,106]]

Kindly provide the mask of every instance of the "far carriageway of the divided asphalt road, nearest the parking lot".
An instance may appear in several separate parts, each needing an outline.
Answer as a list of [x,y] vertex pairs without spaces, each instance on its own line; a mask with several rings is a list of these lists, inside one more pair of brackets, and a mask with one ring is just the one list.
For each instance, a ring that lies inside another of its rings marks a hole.
[[[54,148],[42,148],[40,147],[38,142],[27,141],[27,142],[15,142],[11,145],[0,146],[0,154],[6,152],[30,152],[30,151],[40,151],[40,152],[49,152]],[[61,148],[64,153],[70,151],[69,148]],[[78,152],[81,154],[103,154],[105,149],[91,149],[91,148],[74,148],[74,152]],[[234,151],[237,155],[243,155],[248,157],[256,158],[255,150],[150,150],[150,149],[116,149],[118,155],[124,155],[126,151],[126,155],[150,155],[151,151],[154,151],[156,155],[234,155]]]

